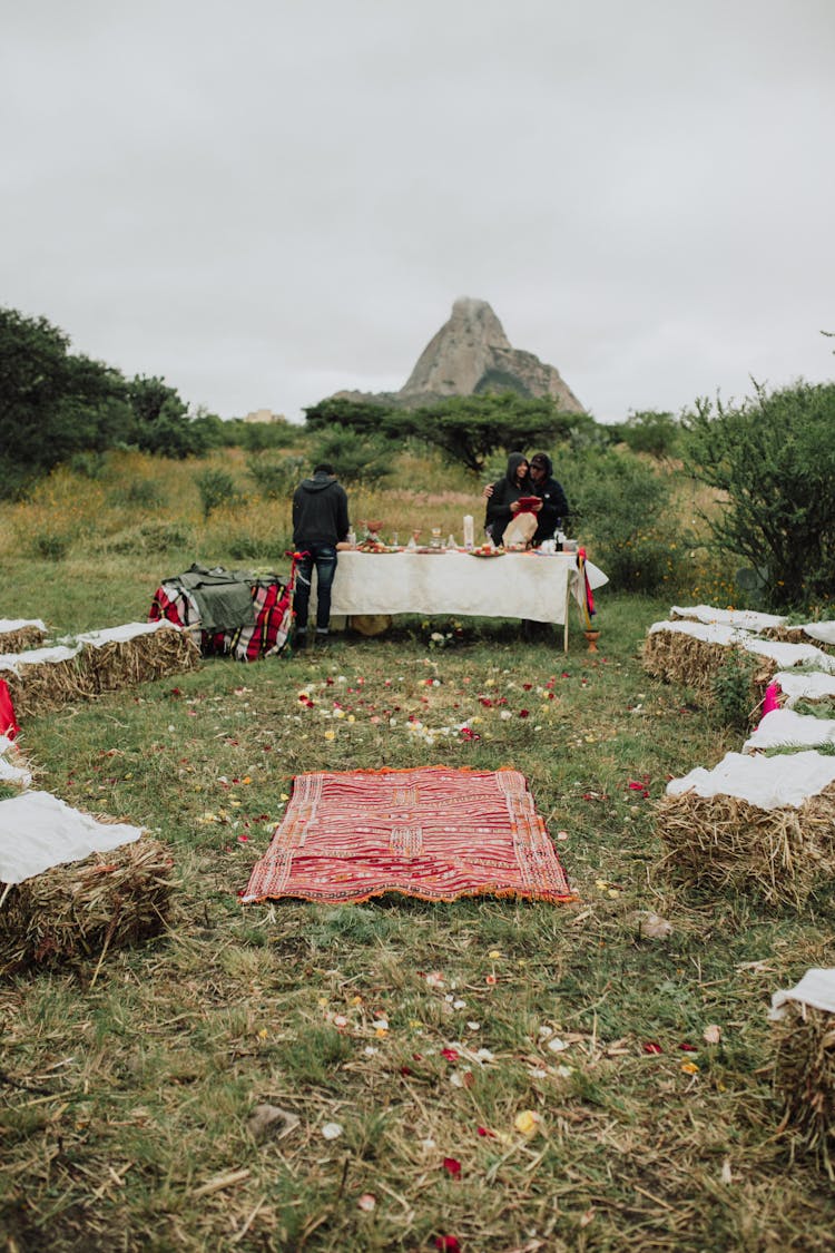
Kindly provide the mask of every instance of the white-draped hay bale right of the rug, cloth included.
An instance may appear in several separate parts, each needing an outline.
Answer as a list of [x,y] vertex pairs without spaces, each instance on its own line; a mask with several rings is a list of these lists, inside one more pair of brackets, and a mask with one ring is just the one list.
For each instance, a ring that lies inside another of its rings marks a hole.
[[661,868],[682,886],[800,906],[835,875],[835,759],[727,753],[715,771],[669,784],[656,832]]

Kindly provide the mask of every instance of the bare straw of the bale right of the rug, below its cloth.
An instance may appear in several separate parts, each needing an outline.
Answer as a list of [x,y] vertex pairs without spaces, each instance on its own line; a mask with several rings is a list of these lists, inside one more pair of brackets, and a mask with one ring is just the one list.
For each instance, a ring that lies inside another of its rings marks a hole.
[[835,786],[799,809],[761,809],[722,794],[666,796],[657,833],[662,870],[676,882],[800,906],[816,882],[835,875]]

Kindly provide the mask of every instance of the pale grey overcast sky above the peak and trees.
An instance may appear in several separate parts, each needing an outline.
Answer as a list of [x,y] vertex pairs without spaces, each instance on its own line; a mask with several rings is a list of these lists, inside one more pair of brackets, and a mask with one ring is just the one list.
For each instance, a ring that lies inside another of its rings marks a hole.
[[830,380],[834,66],[834,0],[5,0],[0,304],[223,417],[458,296],[601,421]]

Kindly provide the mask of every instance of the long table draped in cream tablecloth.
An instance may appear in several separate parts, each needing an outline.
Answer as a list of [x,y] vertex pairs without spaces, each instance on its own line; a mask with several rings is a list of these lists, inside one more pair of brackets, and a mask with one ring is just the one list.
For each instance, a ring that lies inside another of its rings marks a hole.
[[[608,583],[591,561],[592,589]],[[563,628],[568,648],[568,603],[582,604],[585,588],[576,553],[505,553],[478,558],[439,549],[434,553],[339,553],[330,601],[332,616],[369,614],[456,614],[525,618]]]

